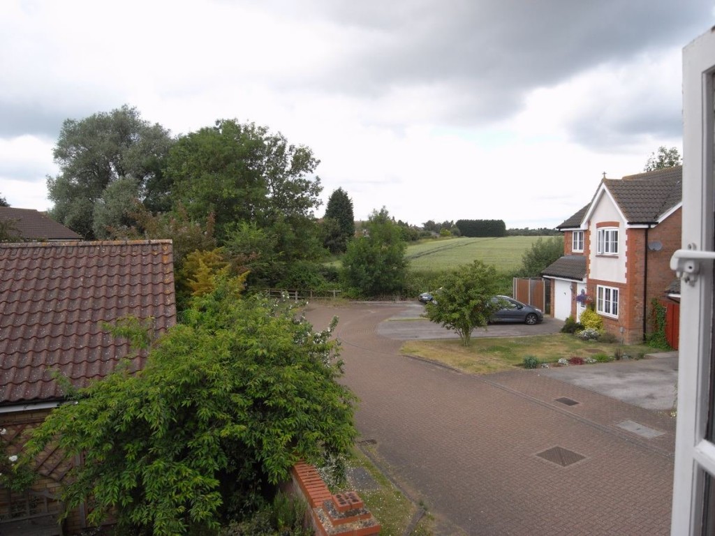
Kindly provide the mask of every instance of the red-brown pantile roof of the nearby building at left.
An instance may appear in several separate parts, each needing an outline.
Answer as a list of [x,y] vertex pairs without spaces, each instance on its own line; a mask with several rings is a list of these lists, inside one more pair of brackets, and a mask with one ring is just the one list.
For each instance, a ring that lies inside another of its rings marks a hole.
[[[171,240],[0,244],[0,405],[59,400],[129,356],[102,328],[132,315],[176,322]],[[144,354],[133,354],[132,369]]]

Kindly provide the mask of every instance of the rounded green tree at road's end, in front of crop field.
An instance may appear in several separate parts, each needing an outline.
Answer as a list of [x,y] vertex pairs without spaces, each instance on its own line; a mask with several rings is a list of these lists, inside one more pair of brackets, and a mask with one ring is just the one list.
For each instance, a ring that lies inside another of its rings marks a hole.
[[364,236],[347,243],[342,257],[342,279],[359,296],[395,294],[405,286],[407,244],[387,209],[373,210]]

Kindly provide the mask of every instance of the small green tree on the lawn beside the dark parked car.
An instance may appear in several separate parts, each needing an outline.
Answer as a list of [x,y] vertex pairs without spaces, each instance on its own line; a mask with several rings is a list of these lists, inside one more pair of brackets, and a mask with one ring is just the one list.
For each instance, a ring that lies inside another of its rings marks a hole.
[[428,319],[452,329],[469,346],[476,327],[485,327],[500,307],[496,268],[476,260],[447,274],[435,300],[425,306]]

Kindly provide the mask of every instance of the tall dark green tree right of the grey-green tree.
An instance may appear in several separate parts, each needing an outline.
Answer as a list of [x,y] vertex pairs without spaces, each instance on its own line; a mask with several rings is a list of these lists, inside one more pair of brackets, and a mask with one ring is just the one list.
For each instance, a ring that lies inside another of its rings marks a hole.
[[179,139],[167,172],[192,218],[215,214],[223,237],[235,222],[272,227],[312,217],[322,189],[317,164],[310,148],[288,144],[280,132],[222,119]]

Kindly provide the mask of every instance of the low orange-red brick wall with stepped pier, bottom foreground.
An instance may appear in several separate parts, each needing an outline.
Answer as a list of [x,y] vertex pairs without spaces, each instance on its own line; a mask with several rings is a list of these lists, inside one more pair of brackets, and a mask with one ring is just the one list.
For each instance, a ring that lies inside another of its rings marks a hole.
[[297,463],[285,489],[302,497],[310,508],[315,534],[320,536],[370,536],[380,534],[380,524],[355,492],[332,495],[315,467]]

